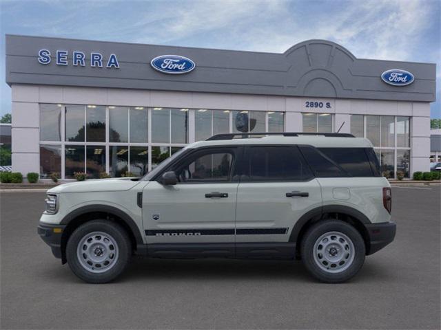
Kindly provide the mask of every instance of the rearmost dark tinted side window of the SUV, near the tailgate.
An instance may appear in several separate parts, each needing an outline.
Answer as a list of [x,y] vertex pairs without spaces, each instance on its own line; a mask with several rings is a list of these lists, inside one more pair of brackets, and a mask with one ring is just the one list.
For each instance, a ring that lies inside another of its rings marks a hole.
[[373,176],[365,148],[319,148],[352,177]]

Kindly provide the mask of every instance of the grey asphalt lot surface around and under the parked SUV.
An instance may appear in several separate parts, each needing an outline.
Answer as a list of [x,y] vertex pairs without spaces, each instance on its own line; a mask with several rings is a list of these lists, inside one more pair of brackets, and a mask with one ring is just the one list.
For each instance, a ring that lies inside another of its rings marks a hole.
[[76,278],[37,235],[43,192],[1,192],[1,329],[440,329],[440,186],[393,188],[396,241],[353,281],[299,261],[135,259]]

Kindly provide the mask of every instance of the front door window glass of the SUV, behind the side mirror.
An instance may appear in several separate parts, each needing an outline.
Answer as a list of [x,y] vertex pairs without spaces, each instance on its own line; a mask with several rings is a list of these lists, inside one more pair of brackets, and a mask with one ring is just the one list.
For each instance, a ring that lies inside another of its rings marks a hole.
[[175,172],[181,182],[229,181],[233,159],[230,151],[205,151],[190,155]]

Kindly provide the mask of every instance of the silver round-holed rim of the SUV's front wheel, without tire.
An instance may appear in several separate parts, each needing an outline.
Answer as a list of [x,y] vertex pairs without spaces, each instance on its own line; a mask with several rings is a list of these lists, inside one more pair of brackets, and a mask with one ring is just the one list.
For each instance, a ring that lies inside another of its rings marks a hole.
[[85,270],[103,273],[118,260],[119,248],[115,239],[105,232],[90,232],[83,236],[76,248],[76,256]]

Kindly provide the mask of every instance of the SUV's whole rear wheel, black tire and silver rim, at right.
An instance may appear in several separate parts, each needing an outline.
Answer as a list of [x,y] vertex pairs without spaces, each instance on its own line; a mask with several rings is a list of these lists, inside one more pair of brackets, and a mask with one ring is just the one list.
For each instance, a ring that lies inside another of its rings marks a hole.
[[306,232],[301,245],[307,270],[325,283],[341,283],[357,274],[365,262],[362,236],[349,223],[325,220]]

